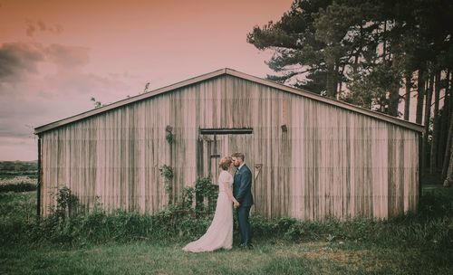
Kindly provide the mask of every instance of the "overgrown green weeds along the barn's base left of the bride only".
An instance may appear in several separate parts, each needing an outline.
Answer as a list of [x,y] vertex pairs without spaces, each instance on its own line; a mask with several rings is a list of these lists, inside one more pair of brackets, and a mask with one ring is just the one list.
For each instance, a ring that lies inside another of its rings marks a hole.
[[103,243],[134,240],[191,240],[201,236],[210,219],[194,218],[193,213],[170,206],[159,213],[130,213],[122,210],[106,213],[101,210],[63,218],[53,213],[29,227],[35,242]]

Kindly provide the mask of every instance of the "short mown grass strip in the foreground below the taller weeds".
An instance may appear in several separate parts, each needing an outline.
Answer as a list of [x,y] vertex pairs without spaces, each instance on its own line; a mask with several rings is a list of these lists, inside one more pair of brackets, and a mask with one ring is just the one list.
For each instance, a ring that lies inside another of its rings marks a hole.
[[[0,253],[5,274],[451,274],[424,251],[379,249],[354,243],[257,243],[192,254],[182,243],[107,243],[77,248],[9,247]],[[450,267],[451,268],[451,267]]]

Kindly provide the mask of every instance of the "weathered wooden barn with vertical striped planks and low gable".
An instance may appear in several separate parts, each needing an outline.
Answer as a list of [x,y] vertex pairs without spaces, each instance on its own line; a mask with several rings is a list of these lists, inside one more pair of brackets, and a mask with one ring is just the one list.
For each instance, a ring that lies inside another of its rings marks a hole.
[[387,218],[419,201],[420,125],[231,69],[34,130],[43,215],[63,186],[89,207],[153,213],[236,151],[254,174],[255,214]]

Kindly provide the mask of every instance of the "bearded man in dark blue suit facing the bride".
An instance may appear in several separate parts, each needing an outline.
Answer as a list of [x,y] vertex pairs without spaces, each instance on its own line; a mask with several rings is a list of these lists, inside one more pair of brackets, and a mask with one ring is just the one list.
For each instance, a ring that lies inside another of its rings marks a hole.
[[236,174],[233,182],[233,196],[239,202],[236,208],[237,222],[239,223],[239,232],[241,233],[241,247],[252,248],[252,236],[250,233],[250,223],[248,214],[250,207],[254,204],[252,196],[252,172],[244,163],[244,154],[235,153],[231,156],[233,164],[236,166]]

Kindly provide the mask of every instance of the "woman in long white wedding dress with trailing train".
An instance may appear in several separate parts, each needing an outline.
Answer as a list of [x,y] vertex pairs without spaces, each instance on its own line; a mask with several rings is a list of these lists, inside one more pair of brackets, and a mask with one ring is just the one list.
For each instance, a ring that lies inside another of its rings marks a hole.
[[218,198],[216,213],[207,232],[195,242],[190,242],[182,250],[189,252],[215,251],[220,248],[231,249],[233,245],[233,209],[239,206],[233,196],[231,186],[233,175],[228,173],[233,167],[231,156],[225,156],[220,160],[218,166],[222,169],[218,175]]

